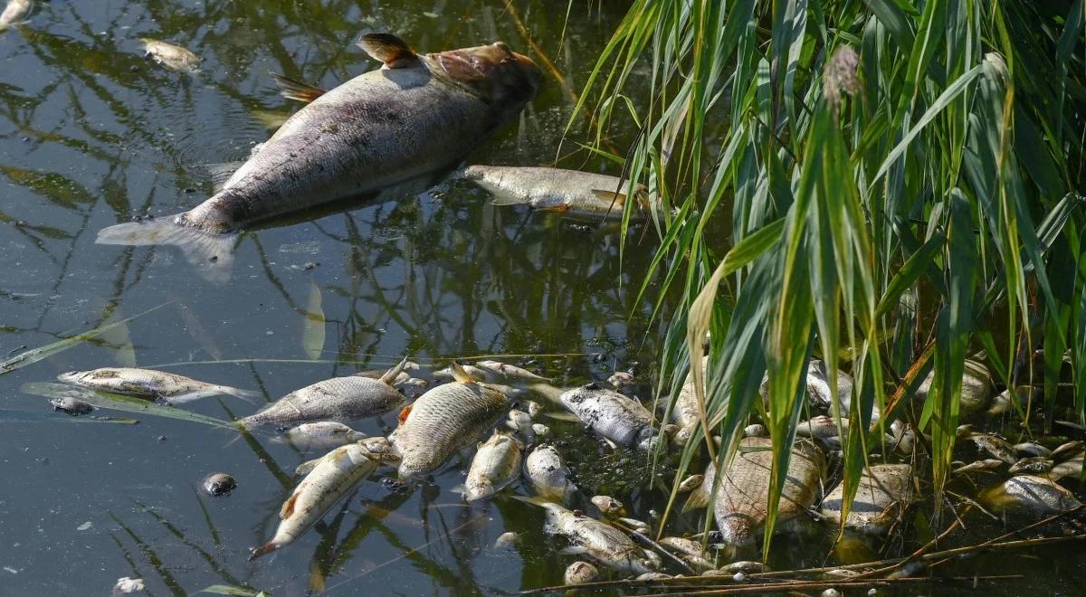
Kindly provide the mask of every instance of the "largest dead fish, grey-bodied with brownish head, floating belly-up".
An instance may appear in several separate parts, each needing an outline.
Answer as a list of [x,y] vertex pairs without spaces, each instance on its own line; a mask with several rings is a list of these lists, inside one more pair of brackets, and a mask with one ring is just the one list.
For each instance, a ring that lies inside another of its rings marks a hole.
[[451,168],[535,96],[540,71],[502,42],[415,53],[388,34],[358,42],[384,65],[310,101],[197,207],[111,226],[101,244],[173,244],[211,280],[230,276],[235,232],[254,221]]

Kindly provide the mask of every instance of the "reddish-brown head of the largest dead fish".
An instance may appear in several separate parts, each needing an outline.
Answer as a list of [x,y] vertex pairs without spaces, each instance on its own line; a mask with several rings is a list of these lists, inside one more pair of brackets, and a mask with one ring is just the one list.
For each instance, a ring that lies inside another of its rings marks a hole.
[[532,60],[502,41],[429,54],[428,58],[457,84],[495,106],[513,112],[535,97],[543,75]]

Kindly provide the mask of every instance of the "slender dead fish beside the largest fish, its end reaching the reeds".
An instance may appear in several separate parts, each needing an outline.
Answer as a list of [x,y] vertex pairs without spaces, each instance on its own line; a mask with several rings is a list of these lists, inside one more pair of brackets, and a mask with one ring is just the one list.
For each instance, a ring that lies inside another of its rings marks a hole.
[[[528,205],[538,212],[570,216],[622,217],[629,180],[614,176],[522,166],[468,166],[457,176],[471,180],[494,195],[494,205]],[[649,212],[648,191],[637,185],[631,219]]]

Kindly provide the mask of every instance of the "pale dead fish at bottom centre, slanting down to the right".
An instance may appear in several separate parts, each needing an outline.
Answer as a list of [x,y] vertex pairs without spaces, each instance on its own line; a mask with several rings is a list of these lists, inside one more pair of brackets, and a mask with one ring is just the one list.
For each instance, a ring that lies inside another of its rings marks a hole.
[[594,518],[578,516],[572,510],[553,501],[519,498],[535,504],[546,513],[545,531],[565,535],[570,547],[565,554],[583,554],[596,562],[618,571],[644,574],[655,568],[654,559],[637,547],[622,531]]

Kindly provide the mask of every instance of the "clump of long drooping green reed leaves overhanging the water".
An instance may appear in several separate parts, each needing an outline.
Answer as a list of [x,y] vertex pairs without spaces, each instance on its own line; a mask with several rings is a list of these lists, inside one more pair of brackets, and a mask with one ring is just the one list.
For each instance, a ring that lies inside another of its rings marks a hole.
[[1084,17],[1082,0],[633,2],[586,88],[597,145],[616,106],[633,114],[623,172],[658,198],[642,292],[665,290],[657,316],[668,289],[682,305],[661,395],[673,402],[709,334],[683,467],[702,445],[716,457],[709,434],[722,466],[759,412],[772,529],[812,353],[855,377],[846,503],[882,437],[876,406],[931,437],[942,501],[973,351],[1013,388],[1043,347],[1049,424],[1069,354],[1086,416]]

